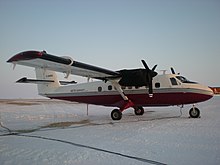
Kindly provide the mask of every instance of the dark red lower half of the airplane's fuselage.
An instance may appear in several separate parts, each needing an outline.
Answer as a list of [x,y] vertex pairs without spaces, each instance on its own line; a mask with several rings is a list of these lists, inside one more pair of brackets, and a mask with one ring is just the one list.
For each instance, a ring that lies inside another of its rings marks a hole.
[[[119,107],[122,98],[120,95],[95,95],[95,96],[48,96],[53,99],[68,100],[79,103]],[[140,106],[170,106],[194,104],[212,98],[212,95],[199,93],[155,93],[153,97],[148,94],[132,94],[127,97]]]

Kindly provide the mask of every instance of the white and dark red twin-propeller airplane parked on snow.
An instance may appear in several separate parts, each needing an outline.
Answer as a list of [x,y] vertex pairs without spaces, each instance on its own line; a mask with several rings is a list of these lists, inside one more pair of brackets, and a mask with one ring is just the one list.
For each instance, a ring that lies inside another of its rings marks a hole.
[[[150,69],[142,60],[143,69],[112,71],[73,60],[58,57],[46,51],[25,51],[18,53],[7,62],[34,67],[36,79],[26,77],[18,83],[35,83],[39,95],[52,99],[75,101],[86,104],[118,107],[111,112],[113,120],[120,120],[122,112],[130,107],[136,115],[143,115],[143,107],[193,104],[189,111],[192,118],[200,116],[194,103],[213,97],[207,86],[187,80],[176,74],[158,75],[157,65]],[[59,81],[56,72],[83,76],[102,81],[77,84],[75,81]]]

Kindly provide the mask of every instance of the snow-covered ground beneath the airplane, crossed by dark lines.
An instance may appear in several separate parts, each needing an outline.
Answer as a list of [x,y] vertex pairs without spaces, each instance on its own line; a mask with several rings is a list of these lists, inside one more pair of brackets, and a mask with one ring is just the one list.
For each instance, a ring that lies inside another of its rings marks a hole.
[[57,100],[1,100],[0,164],[220,164],[220,97],[191,106],[133,110]]

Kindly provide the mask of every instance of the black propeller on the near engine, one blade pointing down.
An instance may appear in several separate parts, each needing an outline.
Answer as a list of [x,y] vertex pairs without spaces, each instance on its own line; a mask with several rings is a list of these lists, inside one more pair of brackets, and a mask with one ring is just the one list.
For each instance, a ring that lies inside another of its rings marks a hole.
[[149,97],[153,97],[152,81],[153,81],[153,77],[155,77],[157,75],[157,72],[154,71],[156,69],[157,65],[154,65],[154,67],[152,69],[150,69],[144,60],[141,60],[141,62],[144,65],[146,72],[147,72],[147,79],[149,81],[147,84],[147,85],[149,85]]

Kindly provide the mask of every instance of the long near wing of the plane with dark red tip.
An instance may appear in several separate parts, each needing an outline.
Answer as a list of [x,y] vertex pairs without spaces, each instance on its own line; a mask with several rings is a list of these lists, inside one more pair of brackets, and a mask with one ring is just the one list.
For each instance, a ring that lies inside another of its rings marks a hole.
[[7,62],[66,73],[66,77],[69,74],[74,74],[106,81],[121,77],[119,72],[81,63],[70,57],[50,55],[46,51],[21,52],[10,58]]

